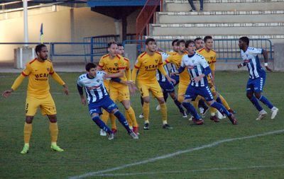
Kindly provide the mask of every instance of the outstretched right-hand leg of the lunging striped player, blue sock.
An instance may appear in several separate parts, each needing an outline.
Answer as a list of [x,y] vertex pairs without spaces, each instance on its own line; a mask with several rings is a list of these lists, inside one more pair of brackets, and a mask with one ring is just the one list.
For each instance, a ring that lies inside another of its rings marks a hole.
[[216,108],[217,110],[219,110],[219,112],[221,112],[222,114],[225,114],[227,117],[229,117],[229,120],[231,121],[231,123],[233,125],[237,124],[237,120],[234,117],[234,115],[229,112],[228,110],[226,110],[226,108],[224,107],[224,105],[217,103],[214,100],[214,97],[209,89],[209,86],[204,86],[204,87],[199,87],[199,91],[197,91],[197,93],[200,96],[203,96],[205,98],[205,100],[207,100],[207,102],[210,104],[211,107]]

